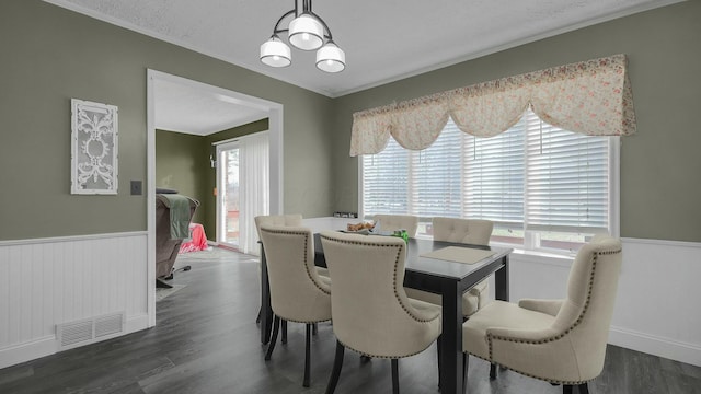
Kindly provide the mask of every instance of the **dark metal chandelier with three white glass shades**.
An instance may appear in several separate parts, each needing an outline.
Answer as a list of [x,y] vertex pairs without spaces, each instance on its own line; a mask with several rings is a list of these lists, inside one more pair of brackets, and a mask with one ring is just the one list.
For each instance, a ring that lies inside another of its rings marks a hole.
[[[302,0],[302,11],[297,7],[288,11],[275,24],[271,39],[261,45],[261,61],[271,67],[287,67],[292,63],[289,46],[279,33],[287,32],[289,43],[301,50],[317,50],[317,68],[325,72],[340,72],[346,68],[346,54],[333,42],[331,30],[326,23],[311,10],[311,0]],[[287,28],[280,23],[294,15]]]

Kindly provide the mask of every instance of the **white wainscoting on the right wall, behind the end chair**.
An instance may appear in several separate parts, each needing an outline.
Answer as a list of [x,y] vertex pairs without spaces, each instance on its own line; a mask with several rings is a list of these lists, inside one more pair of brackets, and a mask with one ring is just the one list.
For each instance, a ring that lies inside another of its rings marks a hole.
[[[609,343],[701,366],[701,243],[622,242]],[[512,301],[564,297],[571,265],[572,259],[512,254]]]

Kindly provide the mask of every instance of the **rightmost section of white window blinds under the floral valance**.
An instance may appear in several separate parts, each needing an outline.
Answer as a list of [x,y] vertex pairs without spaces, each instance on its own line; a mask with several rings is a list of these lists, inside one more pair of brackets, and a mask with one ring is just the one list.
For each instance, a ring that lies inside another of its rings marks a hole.
[[608,230],[608,138],[570,132],[528,113],[526,230]]

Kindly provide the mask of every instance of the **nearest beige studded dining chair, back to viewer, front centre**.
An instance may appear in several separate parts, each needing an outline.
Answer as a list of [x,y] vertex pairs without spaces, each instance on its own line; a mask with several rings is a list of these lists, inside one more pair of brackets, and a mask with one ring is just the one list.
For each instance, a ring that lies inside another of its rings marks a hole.
[[406,244],[393,236],[325,231],[321,242],[331,292],[336,357],[326,393],[333,393],[347,347],[360,355],[389,358],[392,390],[399,393],[399,358],[425,350],[440,335],[440,308],[406,297]]

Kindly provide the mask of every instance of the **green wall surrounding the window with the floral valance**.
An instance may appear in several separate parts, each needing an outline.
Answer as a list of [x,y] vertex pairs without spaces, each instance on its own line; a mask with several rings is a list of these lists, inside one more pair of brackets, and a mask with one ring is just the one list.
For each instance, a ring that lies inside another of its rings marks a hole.
[[627,54],[637,134],[622,138],[621,236],[701,241],[701,2],[613,20],[336,100],[334,207],[357,209],[354,112],[478,82]]

